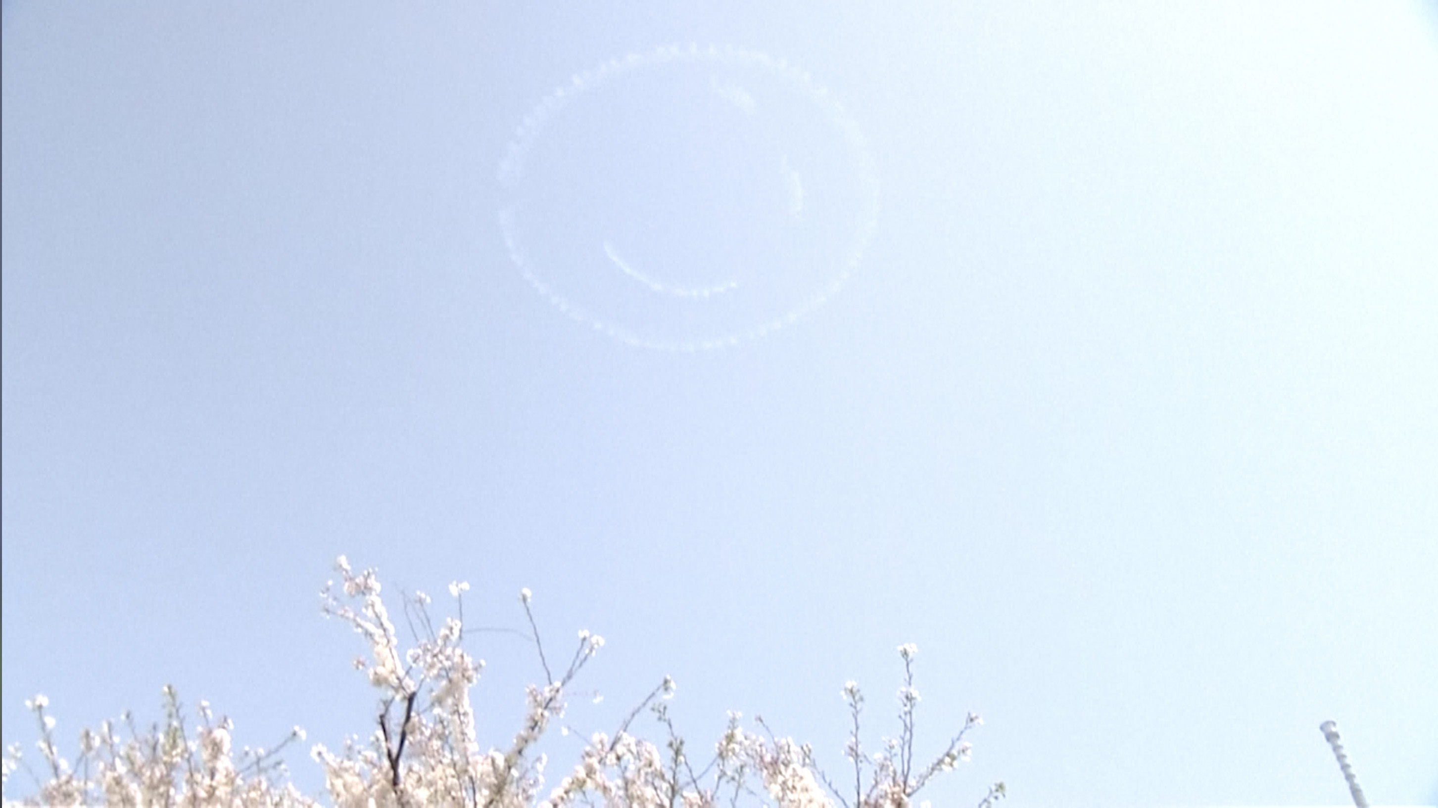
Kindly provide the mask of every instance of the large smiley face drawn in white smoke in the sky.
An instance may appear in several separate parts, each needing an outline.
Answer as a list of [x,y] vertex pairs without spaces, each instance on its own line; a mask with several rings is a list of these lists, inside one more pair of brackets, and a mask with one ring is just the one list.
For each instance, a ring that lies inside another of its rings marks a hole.
[[808,73],[661,47],[577,73],[499,164],[509,257],[559,311],[631,345],[777,331],[844,285],[879,194],[858,127]]

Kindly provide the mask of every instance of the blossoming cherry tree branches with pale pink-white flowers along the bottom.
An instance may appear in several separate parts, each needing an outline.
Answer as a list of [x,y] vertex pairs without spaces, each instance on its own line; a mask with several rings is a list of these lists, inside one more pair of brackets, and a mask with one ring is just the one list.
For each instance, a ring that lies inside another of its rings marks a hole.
[[[548,795],[544,755],[535,746],[545,730],[564,716],[569,684],[588,660],[604,647],[604,638],[580,631],[569,666],[552,676],[539,644],[533,641],[544,664],[546,684],[531,686],[528,710],[518,733],[505,748],[482,749],[475,735],[470,689],[479,680],[483,661],[460,646],[464,638],[462,595],[469,585],[453,582],[450,594],[460,600],[460,617],[433,623],[427,610],[430,598],[416,594],[406,602],[406,615],[417,627],[416,647],[401,653],[400,641],[384,602],[374,569],[355,574],[341,556],[335,564],[342,585],[326,584],[321,594],[324,611],[348,623],[364,637],[370,658],[355,660],[371,684],[380,690],[380,716],[374,732],[351,736],[338,752],[315,745],[311,756],[325,771],[328,798],[338,807],[408,807],[408,805],[485,805],[490,808],[561,808],[567,805],[605,805],[613,808],[672,807],[707,808],[736,804],[741,796],[778,807],[810,808],[899,808],[912,805],[913,795],[935,775],[966,761],[971,746],[965,732],[981,723],[976,715],[949,748],[928,768],[912,771],[913,690],[912,661],[916,650],[900,646],[905,661],[905,686],[900,689],[903,736],[889,740],[886,752],[866,758],[858,745],[858,713],[863,694],[853,681],[843,694],[853,715],[853,733],[846,749],[854,766],[851,786],[837,788],[814,762],[808,745],[775,738],[756,719],[761,733],[745,732],[738,713],[731,713],[723,736],[715,745],[712,761],[695,773],[684,742],[674,732],[667,713],[667,699],[674,680],[664,677],[624,725],[613,735],[597,733],[584,748],[580,761]],[[535,627],[529,589],[521,591],[521,604],[529,625]],[[413,611],[411,611],[413,610]],[[280,784],[285,773],[276,753],[292,740],[303,740],[305,730],[293,727],[275,749],[232,749],[229,719],[216,720],[210,706],[198,704],[200,722],[190,733],[171,687],[164,689],[165,722],[148,732],[135,729],[125,716],[128,736],[121,738],[109,722],[98,733],[81,735],[79,765],[60,758],[53,739],[55,719],[46,713],[49,702],[36,696],[26,707],[39,719],[39,749],[45,773],[35,776],[39,791],[26,802],[40,805],[122,804],[122,805],[318,805],[293,785]],[[631,720],[644,709],[667,729],[663,748],[628,732]],[[3,784],[24,766],[17,746],[3,759]],[[863,771],[871,768],[869,786]],[[827,789],[827,791],[825,791]],[[853,801],[850,801],[850,798]],[[989,789],[982,805],[1004,796],[1002,784]]]

